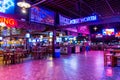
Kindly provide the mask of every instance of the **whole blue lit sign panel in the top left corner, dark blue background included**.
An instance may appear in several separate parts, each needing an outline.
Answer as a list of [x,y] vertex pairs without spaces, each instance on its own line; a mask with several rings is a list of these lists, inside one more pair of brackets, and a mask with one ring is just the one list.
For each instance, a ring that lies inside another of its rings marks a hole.
[[0,0],[0,12],[14,14],[15,0]]

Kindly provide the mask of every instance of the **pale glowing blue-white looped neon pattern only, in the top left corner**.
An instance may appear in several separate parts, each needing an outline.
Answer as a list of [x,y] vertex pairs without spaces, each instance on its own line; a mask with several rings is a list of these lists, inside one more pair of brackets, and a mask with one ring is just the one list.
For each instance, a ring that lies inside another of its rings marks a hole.
[[6,12],[10,7],[14,6],[14,2],[12,0],[2,0],[0,1],[0,12]]

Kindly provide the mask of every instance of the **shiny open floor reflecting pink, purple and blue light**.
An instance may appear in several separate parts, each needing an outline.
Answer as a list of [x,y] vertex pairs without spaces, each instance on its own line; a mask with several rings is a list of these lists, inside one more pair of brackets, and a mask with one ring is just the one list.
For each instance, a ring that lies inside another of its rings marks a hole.
[[103,52],[1,65],[0,80],[120,80],[120,66],[104,67]]

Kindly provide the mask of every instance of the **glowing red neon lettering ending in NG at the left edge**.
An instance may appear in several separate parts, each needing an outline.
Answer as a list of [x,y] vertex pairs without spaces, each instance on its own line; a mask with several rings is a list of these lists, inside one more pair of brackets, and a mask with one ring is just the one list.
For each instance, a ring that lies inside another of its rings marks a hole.
[[8,27],[17,26],[17,21],[12,18],[0,17],[0,23],[5,23],[5,25]]

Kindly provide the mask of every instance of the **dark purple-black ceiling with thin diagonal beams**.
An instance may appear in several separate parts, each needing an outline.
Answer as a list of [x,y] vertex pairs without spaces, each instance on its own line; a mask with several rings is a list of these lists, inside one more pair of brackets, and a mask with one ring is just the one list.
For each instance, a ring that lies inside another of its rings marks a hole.
[[[31,4],[42,0],[29,0]],[[70,18],[97,14],[99,17],[120,15],[120,0],[46,0],[37,6],[45,6]]]

